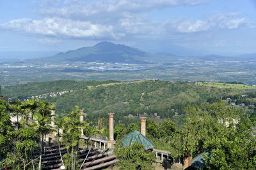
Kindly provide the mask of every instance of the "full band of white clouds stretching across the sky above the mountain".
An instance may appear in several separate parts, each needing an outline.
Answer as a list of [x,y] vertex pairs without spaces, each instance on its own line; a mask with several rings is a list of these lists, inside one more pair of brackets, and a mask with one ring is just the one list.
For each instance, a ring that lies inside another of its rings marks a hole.
[[172,36],[177,33],[211,31],[216,29],[237,29],[252,24],[239,13],[217,13],[207,20],[177,19],[155,21],[147,15],[123,13],[122,17],[108,23],[72,20],[71,18],[47,17],[42,20],[21,18],[0,24],[0,29],[22,31],[30,34],[56,36],[58,38],[118,39],[124,36]]

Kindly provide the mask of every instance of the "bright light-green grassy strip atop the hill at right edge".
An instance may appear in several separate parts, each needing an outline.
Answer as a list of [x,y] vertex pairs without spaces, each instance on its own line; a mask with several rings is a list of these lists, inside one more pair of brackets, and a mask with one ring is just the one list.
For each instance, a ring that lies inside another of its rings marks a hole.
[[209,81],[198,82],[196,84],[197,85],[209,86],[209,87],[232,88],[232,89],[240,89],[240,90],[256,89],[256,87],[252,87],[250,85],[218,83],[218,82],[209,82]]

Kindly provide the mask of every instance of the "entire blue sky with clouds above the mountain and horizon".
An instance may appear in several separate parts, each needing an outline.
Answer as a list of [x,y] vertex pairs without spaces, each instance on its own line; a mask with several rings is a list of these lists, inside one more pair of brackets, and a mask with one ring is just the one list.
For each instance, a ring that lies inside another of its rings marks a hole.
[[0,52],[100,41],[147,52],[256,53],[256,1],[0,0]]

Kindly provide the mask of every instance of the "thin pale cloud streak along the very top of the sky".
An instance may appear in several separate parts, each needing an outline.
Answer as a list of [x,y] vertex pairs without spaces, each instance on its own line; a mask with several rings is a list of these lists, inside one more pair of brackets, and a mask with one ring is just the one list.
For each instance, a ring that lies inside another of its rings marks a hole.
[[[58,1],[58,6],[52,5],[54,1],[47,0],[47,7],[42,8],[40,13],[45,15],[58,15],[61,17],[77,17],[83,16],[88,17],[92,15],[97,15],[102,13],[141,13],[154,9],[168,8],[170,6],[177,5],[196,5],[205,3],[207,0],[92,0],[92,1],[63,1],[60,5]],[[49,5],[54,6],[54,8],[49,8]]]

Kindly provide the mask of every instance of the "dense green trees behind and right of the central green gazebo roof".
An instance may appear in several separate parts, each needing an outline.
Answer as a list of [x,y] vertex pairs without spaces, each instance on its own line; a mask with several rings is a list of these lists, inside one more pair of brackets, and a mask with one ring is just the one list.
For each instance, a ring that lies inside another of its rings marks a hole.
[[[223,103],[187,106],[186,123],[177,129],[171,120],[160,124],[147,120],[147,137],[156,148],[168,150],[173,160],[204,155],[207,169],[252,169],[256,166],[255,118]],[[115,138],[121,139],[138,124],[115,127]],[[128,153],[127,153],[128,154]]]

